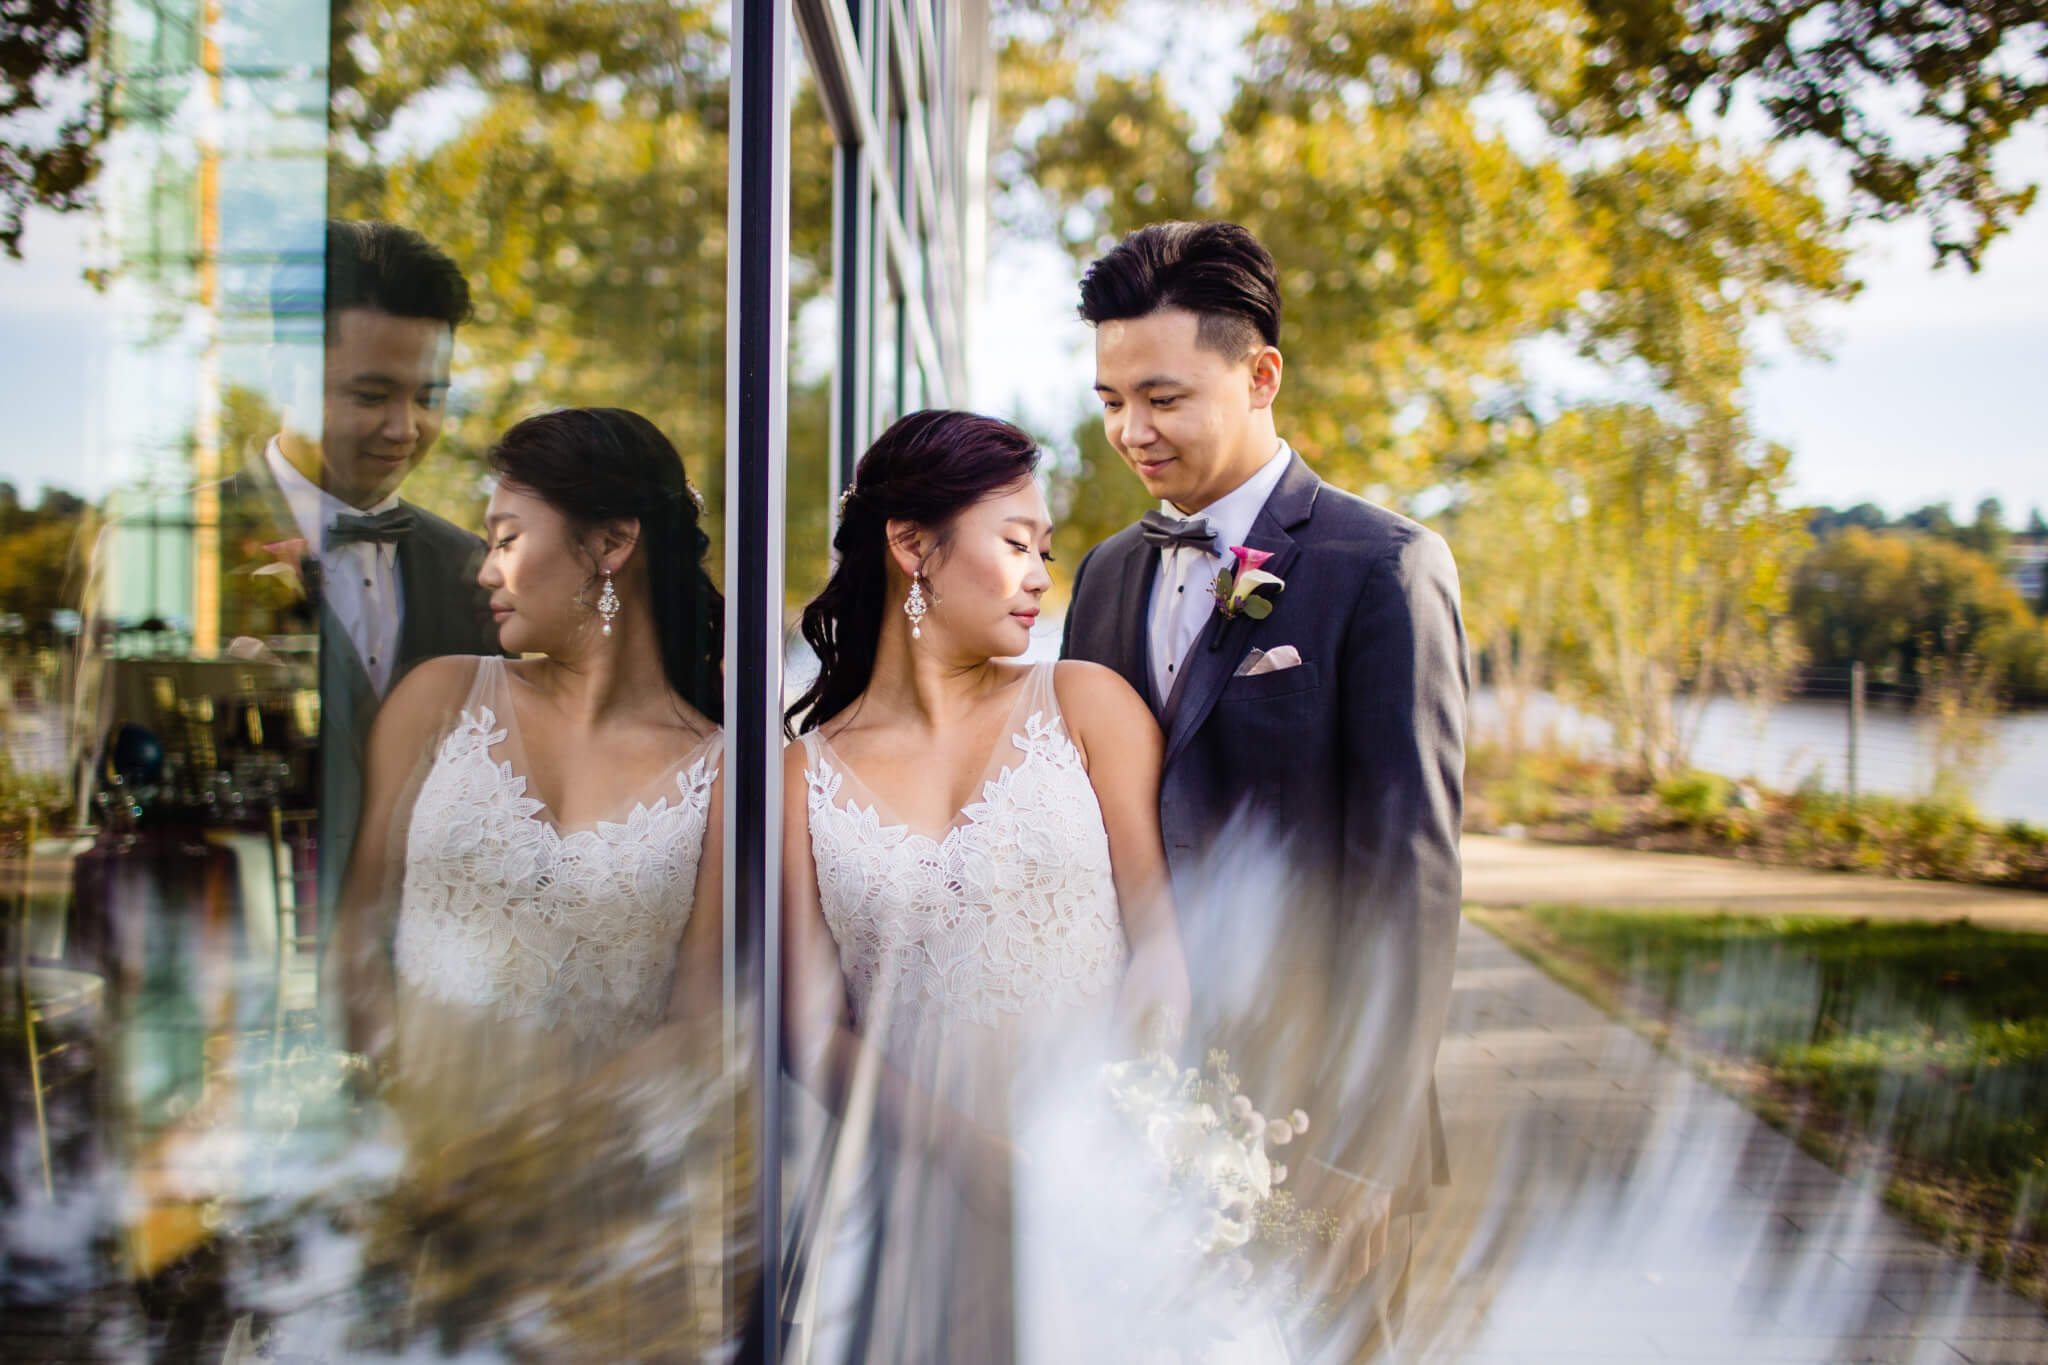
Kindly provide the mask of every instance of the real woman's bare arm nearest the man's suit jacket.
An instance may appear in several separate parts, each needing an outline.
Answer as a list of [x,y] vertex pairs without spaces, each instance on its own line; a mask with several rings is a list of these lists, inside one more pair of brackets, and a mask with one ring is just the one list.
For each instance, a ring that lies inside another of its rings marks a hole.
[[1065,661],[1053,673],[1053,686],[1102,806],[1110,874],[1130,941],[1130,972],[1116,1021],[1126,1042],[1171,1050],[1188,1023],[1190,993],[1159,835],[1165,739],[1130,684],[1100,663]]

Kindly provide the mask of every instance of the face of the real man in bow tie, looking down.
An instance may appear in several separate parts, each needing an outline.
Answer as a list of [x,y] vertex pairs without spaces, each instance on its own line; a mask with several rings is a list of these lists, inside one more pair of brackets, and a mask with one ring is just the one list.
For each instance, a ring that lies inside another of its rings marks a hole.
[[1188,309],[1096,327],[1102,430],[1147,493],[1188,514],[1235,489],[1272,454],[1253,442],[1253,411],[1272,401],[1255,372],[1260,352],[1231,360],[1198,344],[1198,332]]

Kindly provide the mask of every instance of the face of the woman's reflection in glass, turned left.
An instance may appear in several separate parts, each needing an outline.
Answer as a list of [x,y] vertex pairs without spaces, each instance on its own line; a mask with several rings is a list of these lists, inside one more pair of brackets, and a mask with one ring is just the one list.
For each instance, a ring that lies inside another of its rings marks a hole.
[[498,645],[559,655],[598,630],[592,555],[569,520],[516,483],[500,483],[483,514],[483,569]]

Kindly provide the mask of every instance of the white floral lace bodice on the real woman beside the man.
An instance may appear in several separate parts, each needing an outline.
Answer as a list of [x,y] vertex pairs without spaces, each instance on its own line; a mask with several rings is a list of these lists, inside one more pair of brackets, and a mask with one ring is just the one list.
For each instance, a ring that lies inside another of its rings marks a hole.
[[[858,1019],[893,1038],[934,1021],[1051,1019],[1110,990],[1128,948],[1110,839],[1053,694],[1053,665],[1022,684],[1014,761],[944,833],[883,819],[817,731],[803,737],[811,851],[825,923]],[[887,1009],[887,1019],[870,1019]],[[901,1029],[909,1029],[903,1033]]]

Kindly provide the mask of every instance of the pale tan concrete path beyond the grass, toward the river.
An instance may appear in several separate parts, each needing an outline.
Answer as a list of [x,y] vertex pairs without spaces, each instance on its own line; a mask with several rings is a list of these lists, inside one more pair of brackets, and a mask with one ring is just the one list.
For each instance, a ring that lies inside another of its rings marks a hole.
[[2048,894],[2042,892],[1497,835],[1464,835],[1464,898],[1489,907],[1632,905],[1737,915],[1968,917],[1982,927],[2048,933]]

